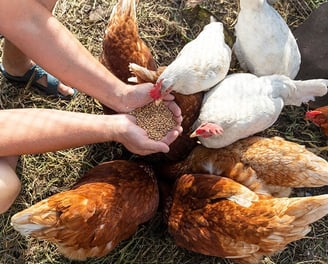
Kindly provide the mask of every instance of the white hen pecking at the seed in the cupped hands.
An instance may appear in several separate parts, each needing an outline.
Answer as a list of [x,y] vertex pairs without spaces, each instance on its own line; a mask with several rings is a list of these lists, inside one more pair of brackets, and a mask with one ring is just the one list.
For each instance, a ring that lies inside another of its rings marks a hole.
[[230,61],[231,49],[224,40],[223,24],[212,18],[159,76],[151,96],[157,100],[171,91],[184,95],[206,91],[225,78]]

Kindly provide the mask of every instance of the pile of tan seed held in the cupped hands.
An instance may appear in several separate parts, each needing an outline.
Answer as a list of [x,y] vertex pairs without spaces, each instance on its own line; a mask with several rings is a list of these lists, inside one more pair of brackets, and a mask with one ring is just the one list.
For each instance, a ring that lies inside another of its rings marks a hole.
[[137,125],[147,132],[148,137],[156,141],[161,140],[176,126],[172,112],[163,103],[157,106],[152,102],[130,114],[136,117]]

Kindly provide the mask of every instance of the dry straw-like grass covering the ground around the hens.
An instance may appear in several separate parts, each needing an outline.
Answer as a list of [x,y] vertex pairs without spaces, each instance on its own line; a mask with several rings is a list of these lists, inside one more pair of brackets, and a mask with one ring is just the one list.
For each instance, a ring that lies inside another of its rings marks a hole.
[[[160,65],[174,59],[181,47],[199,32],[201,22],[190,25],[193,16],[180,10],[180,2],[173,0],[140,1],[138,20],[141,37],[151,47]],[[218,17],[231,32],[238,13],[237,1],[208,0],[205,7]],[[277,9],[291,28],[297,27],[322,0],[306,3],[298,0],[280,1]],[[62,0],[56,16],[85,45],[98,56],[102,35],[115,1]],[[183,15],[182,15],[183,14]],[[326,45],[326,43],[323,43]],[[238,70],[238,68],[233,69]],[[79,94],[71,102],[47,100],[31,89],[17,89],[0,77],[0,108],[44,107],[68,111],[101,113],[101,106],[92,98]],[[307,106],[286,107],[273,127],[264,131],[265,136],[280,135],[316,151],[326,146],[327,139],[320,130],[304,121]],[[328,159],[328,153],[319,155]],[[22,156],[17,169],[23,190],[12,208],[0,215],[0,263],[76,263],[58,254],[56,247],[47,242],[24,238],[15,232],[10,216],[54,193],[68,189],[84,172],[102,161],[128,158],[116,143],[95,144],[76,149]],[[328,188],[300,189],[294,195],[328,193]],[[141,226],[129,240],[122,242],[111,254],[84,263],[230,263],[216,257],[188,252],[174,245],[158,213],[149,223]],[[291,243],[283,252],[267,259],[266,263],[328,263],[328,217],[312,225],[312,232],[305,239]]]

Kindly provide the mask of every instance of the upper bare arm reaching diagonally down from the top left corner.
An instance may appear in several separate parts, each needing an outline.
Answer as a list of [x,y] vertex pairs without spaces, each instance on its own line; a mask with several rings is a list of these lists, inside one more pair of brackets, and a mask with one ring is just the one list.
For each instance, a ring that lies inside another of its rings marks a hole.
[[33,61],[117,112],[151,101],[151,84],[121,82],[38,1],[0,1],[0,21],[0,33]]

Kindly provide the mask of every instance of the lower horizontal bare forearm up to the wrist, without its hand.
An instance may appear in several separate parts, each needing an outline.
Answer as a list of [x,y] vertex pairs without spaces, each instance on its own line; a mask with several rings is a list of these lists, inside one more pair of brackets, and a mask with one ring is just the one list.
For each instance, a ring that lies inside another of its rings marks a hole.
[[115,135],[111,118],[50,109],[0,110],[0,156],[111,141]]

